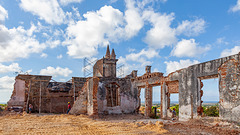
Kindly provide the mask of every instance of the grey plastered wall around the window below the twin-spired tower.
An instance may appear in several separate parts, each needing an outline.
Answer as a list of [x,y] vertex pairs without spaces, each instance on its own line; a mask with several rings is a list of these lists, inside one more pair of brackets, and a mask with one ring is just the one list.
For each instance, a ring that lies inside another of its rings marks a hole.
[[[107,105],[107,88],[110,83],[119,86],[118,105],[109,107]],[[125,78],[107,79],[102,78],[98,85],[98,113],[100,114],[121,114],[121,113],[134,113],[138,107],[138,90],[132,87],[131,80]]]

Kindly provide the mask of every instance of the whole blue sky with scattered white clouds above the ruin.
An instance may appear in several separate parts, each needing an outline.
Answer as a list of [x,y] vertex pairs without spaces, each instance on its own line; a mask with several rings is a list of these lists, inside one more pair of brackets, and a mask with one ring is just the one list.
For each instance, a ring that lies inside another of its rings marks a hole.
[[[167,75],[236,54],[239,24],[240,0],[1,0],[0,102],[15,72],[68,81],[108,44],[125,75],[146,65]],[[218,100],[217,87],[206,81],[206,101]]]

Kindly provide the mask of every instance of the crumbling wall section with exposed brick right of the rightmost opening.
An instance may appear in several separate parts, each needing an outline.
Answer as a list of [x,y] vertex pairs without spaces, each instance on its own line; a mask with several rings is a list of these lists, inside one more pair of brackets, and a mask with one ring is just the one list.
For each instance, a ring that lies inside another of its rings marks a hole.
[[229,121],[240,121],[240,71],[239,61],[231,59],[219,67],[220,75],[220,118]]

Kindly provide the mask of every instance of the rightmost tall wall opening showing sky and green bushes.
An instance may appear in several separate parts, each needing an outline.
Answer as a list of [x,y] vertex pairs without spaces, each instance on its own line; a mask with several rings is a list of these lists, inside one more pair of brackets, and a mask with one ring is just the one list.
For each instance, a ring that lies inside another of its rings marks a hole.
[[202,108],[198,108],[201,116],[219,117],[219,79],[201,80],[200,102]]

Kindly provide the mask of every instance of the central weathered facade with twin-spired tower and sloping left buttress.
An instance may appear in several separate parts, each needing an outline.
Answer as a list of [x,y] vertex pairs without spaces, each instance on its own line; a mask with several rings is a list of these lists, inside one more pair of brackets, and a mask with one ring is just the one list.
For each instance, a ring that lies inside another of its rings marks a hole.
[[138,93],[132,87],[132,76],[117,78],[116,62],[114,50],[110,54],[108,47],[105,57],[93,66],[93,77],[85,83],[70,114],[121,114],[136,111]]

